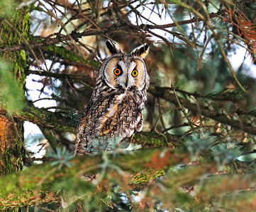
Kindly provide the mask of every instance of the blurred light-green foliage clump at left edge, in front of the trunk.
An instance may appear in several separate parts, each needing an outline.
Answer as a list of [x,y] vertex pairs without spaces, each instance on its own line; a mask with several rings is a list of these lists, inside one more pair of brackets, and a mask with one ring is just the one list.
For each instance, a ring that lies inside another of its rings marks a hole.
[[9,114],[23,110],[23,90],[4,61],[0,61],[0,90],[0,102],[5,105]]

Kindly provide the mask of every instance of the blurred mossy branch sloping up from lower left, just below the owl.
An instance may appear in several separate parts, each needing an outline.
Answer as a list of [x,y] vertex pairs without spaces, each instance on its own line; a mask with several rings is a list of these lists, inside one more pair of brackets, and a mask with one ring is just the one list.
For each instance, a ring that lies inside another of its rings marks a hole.
[[[83,173],[101,172],[101,169],[106,168],[104,166],[108,167],[110,174],[111,172],[116,172],[116,167],[118,167],[117,170],[123,170],[124,172],[139,171],[147,167],[159,169],[170,165],[188,163],[189,153],[155,150],[108,155],[83,155],[69,160],[69,163],[72,163],[71,167],[64,167],[65,165],[63,165],[60,169],[62,161],[60,160],[60,163],[55,166],[52,166],[52,163],[37,165],[21,172],[16,172],[13,175],[1,177],[0,208],[3,210],[13,205],[31,206],[60,201],[55,192],[52,192],[52,187],[48,186],[49,184],[54,185],[60,181],[65,182],[65,180],[68,181],[70,179],[78,180]],[[138,180],[136,183],[138,183]],[[29,192],[23,194],[26,190]],[[30,198],[26,198],[29,194]],[[35,201],[36,199],[38,202]]]

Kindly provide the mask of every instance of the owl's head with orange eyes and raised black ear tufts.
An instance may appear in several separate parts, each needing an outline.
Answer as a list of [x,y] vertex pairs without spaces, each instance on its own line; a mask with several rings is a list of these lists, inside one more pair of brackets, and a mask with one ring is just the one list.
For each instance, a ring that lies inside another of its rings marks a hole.
[[143,60],[149,51],[147,44],[134,49],[130,54],[116,49],[110,40],[106,40],[106,48],[110,57],[99,69],[98,80],[103,78],[106,84],[113,89],[143,90],[148,88],[149,76]]

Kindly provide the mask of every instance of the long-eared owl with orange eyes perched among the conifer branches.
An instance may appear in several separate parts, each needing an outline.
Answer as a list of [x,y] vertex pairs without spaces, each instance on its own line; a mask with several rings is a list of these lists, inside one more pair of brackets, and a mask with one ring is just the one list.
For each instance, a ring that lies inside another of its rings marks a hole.
[[125,54],[106,40],[106,49],[110,57],[99,66],[91,99],[77,126],[74,155],[125,149],[143,127],[150,79],[143,59],[149,46]]

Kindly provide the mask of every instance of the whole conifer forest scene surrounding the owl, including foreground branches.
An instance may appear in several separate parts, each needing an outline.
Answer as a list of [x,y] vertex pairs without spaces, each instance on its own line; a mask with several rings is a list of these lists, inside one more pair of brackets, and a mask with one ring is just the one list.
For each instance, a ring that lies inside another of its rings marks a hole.
[[[69,211],[256,210],[255,14],[252,0],[1,0],[1,211],[61,211],[63,194]],[[143,131],[130,151],[74,158],[106,39],[150,45]]]

